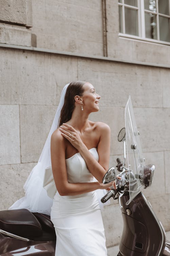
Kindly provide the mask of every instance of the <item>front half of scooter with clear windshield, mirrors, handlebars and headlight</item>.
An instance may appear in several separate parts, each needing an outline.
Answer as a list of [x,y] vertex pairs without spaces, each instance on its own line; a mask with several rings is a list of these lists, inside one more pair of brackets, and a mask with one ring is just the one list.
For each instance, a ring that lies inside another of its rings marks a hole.
[[145,165],[130,97],[125,108],[125,128],[120,130],[118,141],[123,141],[124,151],[123,162],[117,158],[120,174],[116,176],[112,167],[103,178],[104,184],[116,180],[116,189],[112,187],[101,199],[102,203],[111,197],[119,200],[123,232],[117,256],[170,256],[165,229],[141,191],[151,186],[155,166]]

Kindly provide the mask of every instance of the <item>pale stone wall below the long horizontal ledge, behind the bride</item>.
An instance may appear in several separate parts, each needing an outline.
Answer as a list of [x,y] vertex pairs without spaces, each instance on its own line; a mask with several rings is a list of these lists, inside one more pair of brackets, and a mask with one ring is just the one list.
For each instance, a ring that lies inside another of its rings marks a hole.
[[[91,82],[101,95],[100,111],[92,113],[90,119],[111,127],[110,166],[116,166],[118,156],[122,158],[123,146],[117,135],[124,126],[124,107],[131,94],[146,163],[156,166],[153,185],[144,194],[169,230],[170,109],[163,87],[170,76],[168,70],[4,48],[0,49],[0,59],[1,210],[23,196],[22,186],[38,161],[62,87],[81,79]],[[118,203],[104,207],[102,214],[107,246],[113,246],[122,231]]]

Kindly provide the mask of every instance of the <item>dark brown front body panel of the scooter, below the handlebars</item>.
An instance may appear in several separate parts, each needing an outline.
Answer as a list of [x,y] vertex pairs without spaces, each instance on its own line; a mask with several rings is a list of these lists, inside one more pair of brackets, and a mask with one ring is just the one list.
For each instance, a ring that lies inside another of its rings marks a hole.
[[127,206],[129,196],[122,196],[123,232],[119,256],[170,256],[170,242],[150,203],[140,192]]

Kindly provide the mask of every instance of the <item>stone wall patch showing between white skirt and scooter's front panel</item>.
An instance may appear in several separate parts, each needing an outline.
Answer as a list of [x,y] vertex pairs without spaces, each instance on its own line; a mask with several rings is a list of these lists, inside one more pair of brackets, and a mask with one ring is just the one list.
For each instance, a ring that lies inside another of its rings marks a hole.
[[120,242],[123,231],[123,219],[119,204],[108,205],[102,210],[106,246],[111,247]]

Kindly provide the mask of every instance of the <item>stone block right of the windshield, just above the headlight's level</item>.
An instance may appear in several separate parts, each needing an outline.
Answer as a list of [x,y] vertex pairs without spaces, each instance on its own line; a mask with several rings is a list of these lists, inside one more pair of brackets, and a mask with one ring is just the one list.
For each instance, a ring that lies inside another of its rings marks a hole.
[[170,110],[134,108],[143,152],[170,150]]

